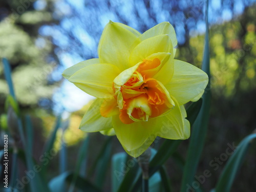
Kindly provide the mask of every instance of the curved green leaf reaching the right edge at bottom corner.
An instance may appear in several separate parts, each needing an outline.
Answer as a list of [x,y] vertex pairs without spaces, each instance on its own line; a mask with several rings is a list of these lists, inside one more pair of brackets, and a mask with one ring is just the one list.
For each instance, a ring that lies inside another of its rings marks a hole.
[[228,192],[232,186],[234,178],[238,172],[238,169],[241,167],[245,155],[247,153],[248,147],[252,139],[256,138],[256,134],[248,135],[244,138],[236,151],[231,155],[227,164],[224,167],[224,170],[221,174],[221,177],[216,185],[216,192]]

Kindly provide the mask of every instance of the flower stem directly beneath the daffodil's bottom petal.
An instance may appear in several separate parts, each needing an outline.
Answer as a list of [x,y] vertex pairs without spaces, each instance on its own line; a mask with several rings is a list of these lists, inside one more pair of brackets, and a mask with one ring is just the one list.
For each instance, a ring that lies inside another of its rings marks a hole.
[[141,154],[137,160],[142,170],[142,192],[148,192],[148,165],[150,164],[151,149],[147,150]]

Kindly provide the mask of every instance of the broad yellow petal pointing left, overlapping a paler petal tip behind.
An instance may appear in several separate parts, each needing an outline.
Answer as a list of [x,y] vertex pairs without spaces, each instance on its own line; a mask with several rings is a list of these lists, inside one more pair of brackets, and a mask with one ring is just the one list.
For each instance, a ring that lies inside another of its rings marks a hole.
[[80,69],[69,81],[89,95],[108,98],[113,96],[113,81],[119,73],[116,66],[99,63]]

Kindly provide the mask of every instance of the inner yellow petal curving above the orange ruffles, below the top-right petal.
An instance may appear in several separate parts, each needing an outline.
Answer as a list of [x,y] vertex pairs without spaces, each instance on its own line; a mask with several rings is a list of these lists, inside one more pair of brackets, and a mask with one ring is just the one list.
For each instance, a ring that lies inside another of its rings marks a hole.
[[153,53],[173,53],[173,46],[168,35],[158,35],[147,38],[140,42],[132,51],[130,56],[130,67],[143,61]]

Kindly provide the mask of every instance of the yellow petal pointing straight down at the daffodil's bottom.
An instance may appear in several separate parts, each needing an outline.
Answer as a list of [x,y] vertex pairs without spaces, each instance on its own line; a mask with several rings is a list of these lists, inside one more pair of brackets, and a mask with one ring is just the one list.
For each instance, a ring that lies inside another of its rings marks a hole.
[[118,115],[112,118],[116,136],[126,151],[133,151],[142,146],[150,136],[154,135],[157,127],[156,119],[124,124]]

